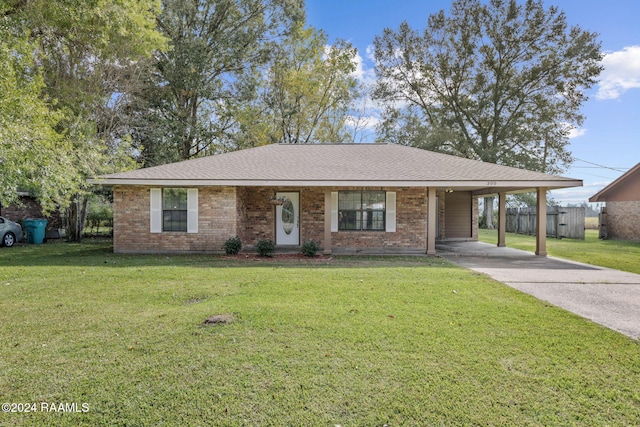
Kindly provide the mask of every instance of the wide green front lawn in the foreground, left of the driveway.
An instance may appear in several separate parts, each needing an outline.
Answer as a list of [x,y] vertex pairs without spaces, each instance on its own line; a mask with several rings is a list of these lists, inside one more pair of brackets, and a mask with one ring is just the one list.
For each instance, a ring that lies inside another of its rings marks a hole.
[[[640,424],[640,345],[426,257],[0,250],[0,425]],[[233,313],[228,325],[205,326]]]

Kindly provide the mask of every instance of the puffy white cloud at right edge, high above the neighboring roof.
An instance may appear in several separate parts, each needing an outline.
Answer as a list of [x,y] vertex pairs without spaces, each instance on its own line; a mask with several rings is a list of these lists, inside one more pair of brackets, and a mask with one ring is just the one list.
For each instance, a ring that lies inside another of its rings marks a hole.
[[602,59],[597,99],[617,99],[629,89],[640,89],[640,46],[627,46]]

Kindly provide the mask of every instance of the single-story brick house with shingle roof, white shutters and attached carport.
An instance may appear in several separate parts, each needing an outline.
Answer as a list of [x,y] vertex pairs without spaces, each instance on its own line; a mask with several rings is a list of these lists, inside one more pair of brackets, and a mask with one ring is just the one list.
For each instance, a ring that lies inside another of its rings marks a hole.
[[397,144],[272,144],[90,182],[113,187],[119,253],[216,252],[238,235],[245,246],[314,239],[325,253],[429,255],[436,239],[477,240],[478,197],[500,196],[504,246],[507,193],[537,191],[545,212],[546,190],[582,185]]

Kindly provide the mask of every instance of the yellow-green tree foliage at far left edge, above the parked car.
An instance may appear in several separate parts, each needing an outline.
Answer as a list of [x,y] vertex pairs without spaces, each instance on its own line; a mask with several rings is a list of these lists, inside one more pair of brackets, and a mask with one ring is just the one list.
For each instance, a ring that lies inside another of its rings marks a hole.
[[73,181],[70,145],[54,130],[59,114],[41,98],[41,76],[30,72],[33,48],[28,34],[0,13],[0,204],[17,203],[18,190],[29,190],[46,212]]

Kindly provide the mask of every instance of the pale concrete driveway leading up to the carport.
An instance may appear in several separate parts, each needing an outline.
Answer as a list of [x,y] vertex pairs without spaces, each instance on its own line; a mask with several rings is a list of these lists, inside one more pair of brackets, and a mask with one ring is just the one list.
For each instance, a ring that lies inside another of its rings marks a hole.
[[438,243],[436,251],[456,264],[640,339],[640,274],[481,242]]

